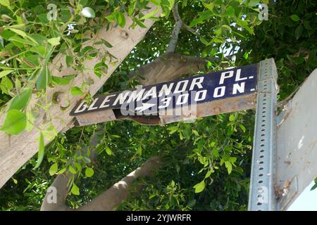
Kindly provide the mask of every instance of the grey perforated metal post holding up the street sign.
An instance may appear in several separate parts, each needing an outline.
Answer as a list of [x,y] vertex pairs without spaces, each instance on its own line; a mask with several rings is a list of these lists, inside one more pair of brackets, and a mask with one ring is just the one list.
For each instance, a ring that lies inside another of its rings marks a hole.
[[271,58],[261,61],[249,193],[251,211],[271,211],[276,207],[274,178],[277,78],[274,60]]

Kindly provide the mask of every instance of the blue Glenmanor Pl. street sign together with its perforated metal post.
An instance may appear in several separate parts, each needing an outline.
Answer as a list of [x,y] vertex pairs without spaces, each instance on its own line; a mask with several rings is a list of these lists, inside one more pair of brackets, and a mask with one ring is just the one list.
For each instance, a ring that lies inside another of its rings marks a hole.
[[274,60],[97,96],[71,110],[76,125],[118,119],[168,124],[256,108],[249,210],[275,210],[275,113],[278,74]]

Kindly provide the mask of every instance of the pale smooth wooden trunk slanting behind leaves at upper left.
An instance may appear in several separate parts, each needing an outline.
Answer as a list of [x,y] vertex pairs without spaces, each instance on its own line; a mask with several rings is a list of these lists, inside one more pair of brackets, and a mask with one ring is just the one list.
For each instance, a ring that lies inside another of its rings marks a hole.
[[[156,6],[151,5],[149,11],[153,11]],[[144,14],[147,14],[147,11],[144,11]],[[49,66],[52,75],[54,76],[65,76],[70,74],[78,74],[74,79],[72,86],[81,86],[82,82],[87,79],[93,79],[94,84],[89,86],[89,93],[94,96],[96,92],[101,88],[101,86],[106,82],[108,77],[113,73],[113,71],[118,68],[118,65],[122,63],[124,58],[128,56],[130,51],[135,47],[139,41],[141,41],[144,35],[147,33],[149,28],[154,24],[152,20],[145,20],[144,24],[147,26],[147,29],[141,27],[135,27],[134,30],[129,29],[132,24],[132,20],[128,15],[125,15],[126,25],[124,28],[112,27],[110,30],[106,31],[106,25],[102,27],[97,34],[94,34],[90,41],[84,44],[84,46],[94,46],[94,48],[99,49],[99,55],[93,58],[92,60],[85,61],[85,70],[83,72],[76,72],[73,68],[67,68],[65,57],[61,54],[58,54],[51,65]],[[105,39],[112,44],[111,49],[107,49],[103,45],[94,45],[95,42],[100,39]],[[99,63],[101,58],[104,56],[104,53],[109,51],[113,56],[118,58],[116,64],[108,65],[108,75],[101,77],[99,79],[94,75],[94,65]],[[79,97],[73,97],[69,94],[70,86],[57,86],[56,88],[48,88],[46,93],[51,101],[52,96],[61,91],[61,94],[58,96],[59,103],[53,104],[49,108],[49,114],[51,115],[52,124],[57,132],[66,131],[73,127],[73,117],[69,116],[70,110],[75,106]],[[32,96],[30,102],[31,105],[35,105],[37,98],[35,95]],[[66,107],[66,110],[61,110],[61,107]],[[5,115],[1,115],[0,124],[3,124]],[[46,119],[45,112],[41,112],[40,116],[36,120],[36,125],[44,128],[44,124],[48,122]],[[0,188],[6,184],[6,181],[10,179],[11,176],[21,167],[27,160],[30,160],[38,150],[38,131],[33,129],[32,131],[23,131],[22,134],[18,136],[9,137],[4,132],[0,132]],[[52,140],[45,140],[45,143],[49,143]]]

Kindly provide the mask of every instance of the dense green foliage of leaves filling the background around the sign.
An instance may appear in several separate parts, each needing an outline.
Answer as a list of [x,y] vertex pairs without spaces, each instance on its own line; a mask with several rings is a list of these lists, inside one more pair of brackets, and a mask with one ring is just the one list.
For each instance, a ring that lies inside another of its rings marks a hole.
[[[9,2],[9,4],[8,4]],[[111,75],[100,93],[135,86],[139,77],[129,72],[147,64],[166,51],[174,19],[173,1],[151,1],[163,8],[158,20],[118,70]],[[135,8],[144,8],[147,1],[50,1],[61,8],[56,21],[46,21],[45,1],[0,0],[0,103],[4,105],[18,93],[30,89],[45,98],[46,85],[62,85],[66,80],[48,76],[47,63],[57,52],[72,51],[70,66],[77,70],[81,61],[94,57],[94,49],[81,49],[82,34],[95,32],[104,21],[125,25],[123,13],[128,12],[135,25],[142,27],[144,15]],[[201,58],[223,57],[221,49],[236,51],[235,63],[247,65],[265,58],[275,58],[279,72],[280,99],[288,96],[316,68],[316,12],[314,1],[270,1],[268,20],[259,21],[259,1],[180,1],[179,11],[184,23],[196,32],[182,29],[176,52]],[[73,8],[69,10],[69,4]],[[82,15],[82,8],[101,16],[94,27]],[[133,8],[135,7],[135,8]],[[132,9],[131,9],[132,8]],[[143,19],[142,19],[143,18]],[[26,23],[27,21],[27,23]],[[75,29],[68,24],[74,23]],[[68,34],[70,32],[70,34]],[[190,43],[190,44],[189,44]],[[102,43],[108,45],[109,43]],[[67,51],[66,51],[67,50]],[[231,52],[232,53],[232,52]],[[225,59],[223,59],[225,61]],[[106,65],[104,65],[106,66]],[[100,67],[99,67],[100,68]],[[207,63],[209,71],[219,70],[219,64]],[[102,75],[97,70],[96,75]],[[4,75],[4,72],[6,75]],[[2,76],[3,75],[3,76]],[[89,84],[87,84],[89,85]],[[23,92],[24,91],[24,92]],[[85,86],[72,94],[82,94]],[[26,101],[27,102],[27,101]],[[49,107],[49,102],[42,105]],[[12,107],[12,106],[11,106]],[[3,108],[5,110],[5,108]],[[11,110],[17,117],[27,117],[32,127],[32,112],[36,109],[19,105]],[[25,127],[24,126],[24,127]],[[0,191],[1,210],[39,210],[46,188],[55,174],[69,169],[73,188],[68,205],[78,207],[97,196],[128,174],[152,155],[164,159],[161,167],[149,179],[141,193],[132,191],[130,200],[118,210],[246,210],[249,189],[254,111],[201,118],[193,123],[173,123],[166,126],[144,126],[132,121],[108,122],[99,137],[97,162],[90,164],[87,155],[78,155],[96,126],[75,127],[58,134],[49,146],[38,169],[37,159],[30,160]],[[24,129],[24,128],[23,128]],[[3,129],[4,130],[4,129]],[[6,130],[4,130],[6,131]],[[20,132],[13,129],[12,134]],[[10,134],[10,131],[7,130]],[[53,132],[54,133],[54,132]],[[54,134],[55,135],[55,134]],[[71,162],[71,163],[69,163]],[[71,167],[71,168],[70,168]]]

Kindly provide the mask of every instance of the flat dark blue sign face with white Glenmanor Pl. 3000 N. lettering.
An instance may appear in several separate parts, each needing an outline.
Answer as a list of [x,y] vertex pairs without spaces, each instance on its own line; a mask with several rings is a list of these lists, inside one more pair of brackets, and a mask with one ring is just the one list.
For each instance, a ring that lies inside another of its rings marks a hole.
[[252,70],[247,73],[244,72],[243,68],[238,68],[218,72],[213,77],[202,75],[145,88],[138,86],[133,91],[122,91],[95,98],[89,106],[85,101],[82,101],[75,109],[74,114],[108,107],[120,108],[126,110],[126,113],[132,114],[157,113],[160,110],[174,110],[174,108],[194,105],[201,101],[215,101],[216,98],[237,96],[246,91],[249,93],[256,90],[254,88],[256,79],[249,84],[249,79],[256,77],[256,74],[251,74],[255,72]]

